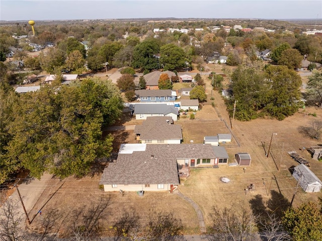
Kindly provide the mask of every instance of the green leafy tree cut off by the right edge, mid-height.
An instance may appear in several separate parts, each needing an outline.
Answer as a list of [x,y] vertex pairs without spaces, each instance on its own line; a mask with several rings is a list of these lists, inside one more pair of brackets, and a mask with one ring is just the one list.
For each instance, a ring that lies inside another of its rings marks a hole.
[[308,76],[306,89],[309,100],[322,108],[322,70],[313,70]]

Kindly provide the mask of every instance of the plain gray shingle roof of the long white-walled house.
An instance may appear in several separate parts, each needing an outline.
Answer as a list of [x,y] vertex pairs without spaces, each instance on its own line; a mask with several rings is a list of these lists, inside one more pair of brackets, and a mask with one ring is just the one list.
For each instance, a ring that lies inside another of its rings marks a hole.
[[167,104],[136,104],[134,114],[170,114],[179,115],[179,111],[174,106]]

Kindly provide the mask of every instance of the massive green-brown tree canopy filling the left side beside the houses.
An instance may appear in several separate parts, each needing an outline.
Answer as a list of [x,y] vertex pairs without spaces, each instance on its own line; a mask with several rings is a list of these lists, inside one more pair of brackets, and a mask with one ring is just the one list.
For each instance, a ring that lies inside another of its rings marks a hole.
[[70,86],[44,86],[21,95],[6,146],[8,163],[39,178],[48,171],[60,178],[89,173],[95,159],[109,156],[112,137],[102,127],[122,113],[122,100],[110,81],[84,79]]

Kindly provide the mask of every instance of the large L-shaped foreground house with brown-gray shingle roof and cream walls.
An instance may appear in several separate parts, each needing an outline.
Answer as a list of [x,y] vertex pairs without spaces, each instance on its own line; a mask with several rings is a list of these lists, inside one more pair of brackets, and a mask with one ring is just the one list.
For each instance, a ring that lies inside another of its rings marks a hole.
[[215,165],[209,144],[121,144],[115,163],[104,169],[104,191],[169,191],[180,184],[182,167]]

